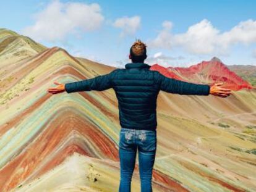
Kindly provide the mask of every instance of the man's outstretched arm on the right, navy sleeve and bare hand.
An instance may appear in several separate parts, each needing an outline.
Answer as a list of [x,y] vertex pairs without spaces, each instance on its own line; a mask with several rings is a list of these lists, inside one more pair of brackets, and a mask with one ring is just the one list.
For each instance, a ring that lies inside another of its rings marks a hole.
[[214,94],[216,96],[226,97],[231,90],[221,88],[220,85],[223,83],[216,83],[213,86],[203,85],[197,83],[189,83],[186,81],[176,80],[174,78],[165,77],[160,73],[160,90],[168,93],[177,94],[196,94],[196,95],[208,95]]

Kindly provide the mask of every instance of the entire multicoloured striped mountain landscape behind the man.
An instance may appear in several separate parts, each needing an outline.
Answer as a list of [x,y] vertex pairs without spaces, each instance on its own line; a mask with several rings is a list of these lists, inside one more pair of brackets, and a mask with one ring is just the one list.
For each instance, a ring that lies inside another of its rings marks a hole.
[[[46,48],[0,29],[0,191],[117,191],[119,111],[113,89],[50,94],[115,67]],[[160,91],[153,191],[256,191],[255,68],[219,59],[187,68],[152,65],[194,83],[224,81],[233,94]],[[136,160],[132,191],[140,191]]]

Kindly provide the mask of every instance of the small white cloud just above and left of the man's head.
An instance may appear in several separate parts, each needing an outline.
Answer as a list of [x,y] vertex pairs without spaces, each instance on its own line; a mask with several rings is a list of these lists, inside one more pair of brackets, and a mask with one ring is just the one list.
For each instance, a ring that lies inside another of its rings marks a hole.
[[133,35],[140,28],[140,17],[135,15],[134,17],[121,17],[114,21],[113,26],[121,28],[121,36]]

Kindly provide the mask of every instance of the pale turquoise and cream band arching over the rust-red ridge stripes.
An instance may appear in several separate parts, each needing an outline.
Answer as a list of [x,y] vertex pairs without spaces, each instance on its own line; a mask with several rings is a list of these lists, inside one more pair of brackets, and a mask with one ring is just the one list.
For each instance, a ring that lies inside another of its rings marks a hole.
[[[101,127],[100,123],[93,120],[92,116],[82,111],[90,111],[92,115],[99,118],[104,125],[108,125],[109,129],[116,129],[116,131],[114,131],[116,134],[117,131],[119,131],[116,125],[108,120],[105,114],[98,111],[95,106],[87,102],[80,94],[74,94],[73,96],[70,94],[56,94],[49,98],[43,106],[32,112],[30,116],[24,119],[17,127],[11,128],[11,130],[8,130],[2,135],[0,146],[4,146],[4,148],[0,150],[0,167],[6,164],[15,152],[19,151],[25,143],[29,142],[33,135],[38,133],[46,122],[49,123],[53,120],[52,117],[56,109],[63,108],[65,102],[70,101],[74,102],[73,107],[75,107],[75,109],[80,110],[81,114],[87,116],[87,118],[92,120],[98,127]],[[19,145],[17,145],[17,143],[19,143]]]

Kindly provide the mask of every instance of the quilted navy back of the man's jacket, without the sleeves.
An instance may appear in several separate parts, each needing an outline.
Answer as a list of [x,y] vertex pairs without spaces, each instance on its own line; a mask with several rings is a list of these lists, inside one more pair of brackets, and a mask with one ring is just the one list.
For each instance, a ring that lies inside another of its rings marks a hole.
[[143,63],[126,64],[113,75],[113,89],[119,106],[121,127],[156,129],[156,99],[160,91],[156,71]]

